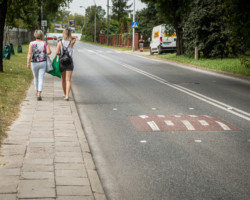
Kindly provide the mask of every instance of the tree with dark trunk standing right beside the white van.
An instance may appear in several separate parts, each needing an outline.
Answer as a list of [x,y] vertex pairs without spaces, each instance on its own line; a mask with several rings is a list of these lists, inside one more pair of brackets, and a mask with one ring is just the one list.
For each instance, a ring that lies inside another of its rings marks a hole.
[[170,24],[176,31],[177,41],[176,55],[181,55],[183,49],[183,25],[184,14],[189,10],[189,3],[192,0],[141,0],[146,3],[155,3],[157,10],[166,24]]

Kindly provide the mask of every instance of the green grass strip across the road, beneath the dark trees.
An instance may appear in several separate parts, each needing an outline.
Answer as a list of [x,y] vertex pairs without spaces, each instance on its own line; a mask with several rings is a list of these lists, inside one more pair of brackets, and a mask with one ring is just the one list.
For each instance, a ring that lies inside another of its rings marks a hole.
[[212,69],[221,72],[229,72],[233,74],[240,74],[244,76],[250,76],[250,68],[246,68],[245,66],[240,64],[239,58],[224,58],[224,59],[205,59],[201,58],[199,60],[195,60],[193,58],[189,58],[187,56],[176,56],[173,54],[163,54],[163,55],[155,55],[156,57],[173,60],[181,63],[187,63],[207,69]]

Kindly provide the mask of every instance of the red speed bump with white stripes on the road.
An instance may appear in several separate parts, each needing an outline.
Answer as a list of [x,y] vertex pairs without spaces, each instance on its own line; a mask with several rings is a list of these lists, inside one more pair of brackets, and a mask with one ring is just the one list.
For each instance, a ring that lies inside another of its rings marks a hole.
[[231,124],[208,115],[139,115],[129,117],[140,131],[237,131]]

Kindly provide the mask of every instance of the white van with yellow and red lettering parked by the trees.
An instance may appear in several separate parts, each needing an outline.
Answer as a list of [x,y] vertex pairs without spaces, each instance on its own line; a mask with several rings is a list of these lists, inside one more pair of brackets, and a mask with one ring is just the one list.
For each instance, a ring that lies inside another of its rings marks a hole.
[[176,33],[169,35],[165,33],[165,24],[155,26],[152,30],[150,41],[150,54],[161,54],[163,52],[176,51]]

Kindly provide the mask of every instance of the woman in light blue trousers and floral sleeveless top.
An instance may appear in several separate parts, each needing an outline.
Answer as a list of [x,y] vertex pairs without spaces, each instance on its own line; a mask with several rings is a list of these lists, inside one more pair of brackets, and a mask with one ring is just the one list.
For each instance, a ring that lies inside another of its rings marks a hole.
[[42,40],[43,32],[41,30],[35,30],[34,37],[35,41],[30,42],[29,45],[27,67],[28,69],[32,69],[37,100],[41,101],[43,78],[46,71],[46,51],[49,55],[51,54],[51,50],[49,44]]

